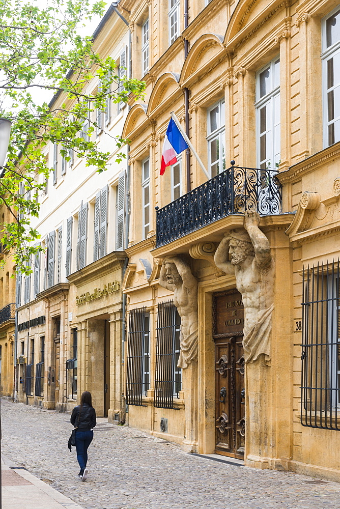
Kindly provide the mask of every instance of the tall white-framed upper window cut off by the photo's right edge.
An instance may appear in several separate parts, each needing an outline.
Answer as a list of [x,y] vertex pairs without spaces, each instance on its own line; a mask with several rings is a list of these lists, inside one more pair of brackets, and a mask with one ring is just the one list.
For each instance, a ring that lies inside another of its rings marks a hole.
[[324,146],[340,141],[340,9],[322,20]]

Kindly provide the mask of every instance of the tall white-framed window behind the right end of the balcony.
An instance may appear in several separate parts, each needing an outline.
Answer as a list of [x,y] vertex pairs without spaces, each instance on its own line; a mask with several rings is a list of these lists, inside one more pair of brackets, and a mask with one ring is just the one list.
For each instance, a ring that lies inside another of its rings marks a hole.
[[280,162],[280,60],[274,59],[256,76],[257,164],[276,169]]

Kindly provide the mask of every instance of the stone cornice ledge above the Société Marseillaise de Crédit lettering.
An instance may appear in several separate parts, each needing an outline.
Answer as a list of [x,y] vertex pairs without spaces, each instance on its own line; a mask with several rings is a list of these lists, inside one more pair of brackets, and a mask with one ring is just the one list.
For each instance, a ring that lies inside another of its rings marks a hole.
[[98,277],[110,274],[112,270],[122,268],[125,258],[125,251],[112,251],[96,262],[90,263],[83,269],[73,272],[68,276],[68,280],[78,288]]

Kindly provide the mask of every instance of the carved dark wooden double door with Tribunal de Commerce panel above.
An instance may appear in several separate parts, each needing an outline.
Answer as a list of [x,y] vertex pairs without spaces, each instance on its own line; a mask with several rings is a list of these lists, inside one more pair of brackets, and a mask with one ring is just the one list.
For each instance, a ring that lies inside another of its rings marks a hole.
[[244,308],[236,290],[214,295],[217,454],[244,458]]

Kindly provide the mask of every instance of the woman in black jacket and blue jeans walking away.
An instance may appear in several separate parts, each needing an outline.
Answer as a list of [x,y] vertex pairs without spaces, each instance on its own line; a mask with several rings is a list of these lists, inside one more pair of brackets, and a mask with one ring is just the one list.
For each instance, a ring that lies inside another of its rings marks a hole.
[[81,394],[80,405],[74,407],[70,420],[76,429],[75,447],[80,466],[78,476],[84,481],[88,476],[88,469],[86,468],[88,447],[93,439],[93,428],[97,424],[96,411],[92,406],[91,392],[86,390]]

